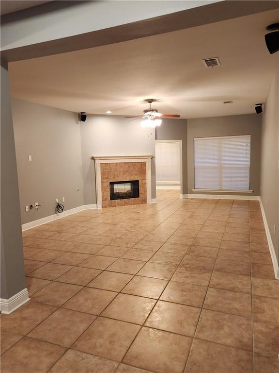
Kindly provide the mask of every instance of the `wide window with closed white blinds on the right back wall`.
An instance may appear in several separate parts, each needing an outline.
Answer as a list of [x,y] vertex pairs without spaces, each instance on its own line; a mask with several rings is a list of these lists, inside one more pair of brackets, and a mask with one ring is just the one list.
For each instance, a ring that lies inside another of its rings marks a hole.
[[194,139],[195,189],[249,190],[250,136]]

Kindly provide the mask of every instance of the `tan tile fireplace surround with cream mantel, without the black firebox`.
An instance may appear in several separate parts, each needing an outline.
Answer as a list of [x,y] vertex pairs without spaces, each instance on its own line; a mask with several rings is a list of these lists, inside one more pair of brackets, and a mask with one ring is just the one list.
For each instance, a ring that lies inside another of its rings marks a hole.
[[[152,203],[151,158],[153,155],[102,156],[95,161],[97,208]],[[110,200],[109,182],[139,180],[139,198]]]

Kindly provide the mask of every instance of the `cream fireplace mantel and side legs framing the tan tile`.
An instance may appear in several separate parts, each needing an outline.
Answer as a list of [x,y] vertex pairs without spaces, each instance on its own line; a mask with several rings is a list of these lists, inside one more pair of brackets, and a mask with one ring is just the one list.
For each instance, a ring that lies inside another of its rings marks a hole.
[[152,187],[151,187],[151,159],[153,157],[154,155],[92,156],[92,159],[95,161],[97,208],[102,208],[102,182],[101,182],[101,164],[102,163],[145,162],[146,163],[147,203],[154,203],[154,201],[152,200]]

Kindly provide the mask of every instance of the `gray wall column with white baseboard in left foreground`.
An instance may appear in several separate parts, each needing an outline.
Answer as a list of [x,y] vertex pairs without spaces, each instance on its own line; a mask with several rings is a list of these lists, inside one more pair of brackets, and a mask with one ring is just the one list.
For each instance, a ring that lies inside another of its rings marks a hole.
[[16,149],[8,66],[1,61],[1,289],[0,310],[11,313],[29,300],[25,286]]

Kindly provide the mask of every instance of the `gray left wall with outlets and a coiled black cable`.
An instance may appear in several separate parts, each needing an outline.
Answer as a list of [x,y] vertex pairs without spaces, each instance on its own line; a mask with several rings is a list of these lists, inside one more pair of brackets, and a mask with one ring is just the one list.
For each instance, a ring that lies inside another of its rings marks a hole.
[[[12,109],[22,223],[53,215],[56,198],[65,210],[83,205],[78,115],[16,99]],[[35,202],[42,208],[26,212]]]

